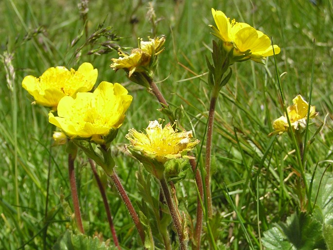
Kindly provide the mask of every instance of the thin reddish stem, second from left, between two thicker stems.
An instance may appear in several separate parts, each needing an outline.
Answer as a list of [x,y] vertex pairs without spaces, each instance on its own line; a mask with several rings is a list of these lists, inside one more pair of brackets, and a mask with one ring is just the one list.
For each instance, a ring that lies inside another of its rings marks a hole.
[[121,247],[119,246],[119,242],[118,242],[118,238],[117,238],[117,234],[116,234],[116,230],[113,226],[113,221],[112,221],[112,216],[111,216],[111,213],[110,213],[110,208],[109,208],[109,204],[107,203],[107,198],[106,198],[106,194],[105,194],[105,189],[102,185],[102,182],[101,182],[101,179],[100,177],[98,176],[98,173],[96,171],[96,167],[95,167],[95,163],[94,161],[92,161],[90,158],[89,158],[89,163],[90,163],[90,166],[91,166],[91,170],[92,170],[92,173],[94,174],[94,177],[97,181],[97,185],[98,185],[98,188],[100,190],[100,193],[102,195],[102,198],[103,198],[103,203],[104,203],[104,208],[105,208],[105,212],[106,212],[106,216],[107,216],[107,221],[109,223],[109,227],[110,227],[110,230],[111,230],[111,233],[112,233],[112,238],[113,238],[113,241],[114,241],[114,244],[115,246],[121,250]]

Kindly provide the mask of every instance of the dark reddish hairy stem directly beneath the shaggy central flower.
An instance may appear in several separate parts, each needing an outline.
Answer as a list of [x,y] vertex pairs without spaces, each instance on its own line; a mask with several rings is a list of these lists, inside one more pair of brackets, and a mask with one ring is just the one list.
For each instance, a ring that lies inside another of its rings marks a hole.
[[159,182],[160,182],[165,200],[166,200],[167,205],[169,207],[171,217],[172,217],[172,219],[174,221],[174,224],[175,224],[175,228],[176,228],[178,238],[179,238],[180,249],[181,250],[187,250],[186,236],[184,234],[183,227],[180,223],[178,213],[177,213],[178,208],[175,207],[175,204],[172,200],[172,197],[171,197],[171,194],[170,194],[170,191],[169,191],[169,188],[168,188],[168,184],[165,180],[165,177],[163,176],[159,180]]

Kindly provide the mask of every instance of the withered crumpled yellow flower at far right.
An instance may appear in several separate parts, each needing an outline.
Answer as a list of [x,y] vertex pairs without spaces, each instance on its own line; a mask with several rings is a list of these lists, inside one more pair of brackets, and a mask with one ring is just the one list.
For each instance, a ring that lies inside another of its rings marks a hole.
[[[306,126],[306,118],[308,115],[309,104],[303,99],[301,95],[296,96],[293,99],[293,105],[287,107],[288,117],[290,124],[294,129],[304,128]],[[315,118],[318,113],[315,112],[315,106],[310,107],[309,118]],[[286,116],[281,116],[273,122],[274,132],[271,134],[282,134],[288,131],[289,125]],[[270,134],[270,135],[271,135]]]

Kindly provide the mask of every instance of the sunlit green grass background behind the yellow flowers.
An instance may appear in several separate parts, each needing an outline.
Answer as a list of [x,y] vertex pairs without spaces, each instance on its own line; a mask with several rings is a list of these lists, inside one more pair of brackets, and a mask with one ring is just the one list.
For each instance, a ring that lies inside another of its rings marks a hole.
[[[51,147],[54,127],[48,123],[48,109],[31,105],[32,98],[21,87],[24,76],[40,76],[47,68],[60,65],[77,69],[88,61],[99,71],[96,84],[119,82],[129,90],[133,102],[112,150],[116,171],[134,203],[140,201],[135,179],[139,163],[124,153],[123,145],[127,143],[124,135],[132,127],[142,130],[150,120],[167,119],[158,111],[160,106],[153,95],[130,83],[123,71],[109,68],[110,59],[117,57],[116,51],[87,55],[86,47],[77,60],[71,59],[85,40],[81,37],[70,48],[71,41],[84,30],[78,3],[0,1],[0,53],[2,59],[5,53],[13,55],[0,68],[0,249],[50,249],[73,225],[65,148]],[[332,1],[317,0],[315,5],[307,0],[156,0],[153,4],[160,18],[155,34],[146,17],[148,1],[91,0],[89,34],[104,22],[121,37],[116,43],[122,47],[136,47],[137,37],[165,35],[165,50],[159,56],[155,81],[172,106],[183,108],[181,124],[188,130],[194,129],[196,138],[202,142],[210,89],[206,76],[188,78],[207,72],[205,56],[210,58],[208,47],[215,39],[208,27],[214,24],[211,7],[249,23],[280,46],[276,66],[288,105],[297,94],[309,99],[315,39],[312,105],[319,116],[310,127],[310,136],[328,116],[310,146],[306,170],[311,173],[318,162],[320,168],[332,160]],[[6,67],[12,69],[7,77]],[[289,154],[293,146],[286,134],[276,138],[267,136],[272,132],[272,121],[283,114],[273,57],[268,58],[265,66],[246,61],[234,64],[232,69],[233,75],[221,90],[216,107],[212,193],[219,217],[211,226],[217,244],[247,249],[250,241],[255,249],[260,249],[263,231],[275,222],[284,221],[298,207],[295,175],[286,179],[297,163],[295,155]],[[105,240],[111,238],[101,196],[82,153],[76,161],[76,172],[87,234],[102,232]],[[232,202],[227,198],[224,183]],[[191,171],[177,185],[177,191],[180,209],[186,212],[188,224],[192,225],[196,191]],[[153,192],[157,194],[158,189]],[[107,196],[122,247],[140,249],[138,233],[111,183],[107,186]],[[45,218],[47,200],[49,216]],[[231,203],[240,217],[235,215]],[[208,247],[205,233],[202,244],[203,249]]]

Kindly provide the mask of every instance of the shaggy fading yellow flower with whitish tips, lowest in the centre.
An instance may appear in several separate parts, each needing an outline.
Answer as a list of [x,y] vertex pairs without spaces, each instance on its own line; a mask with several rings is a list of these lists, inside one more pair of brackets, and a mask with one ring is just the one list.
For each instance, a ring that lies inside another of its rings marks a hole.
[[178,132],[170,123],[162,128],[156,120],[149,122],[146,133],[130,129],[126,138],[130,140],[131,150],[163,164],[170,159],[191,158],[184,154],[199,143],[193,139],[192,131]]

